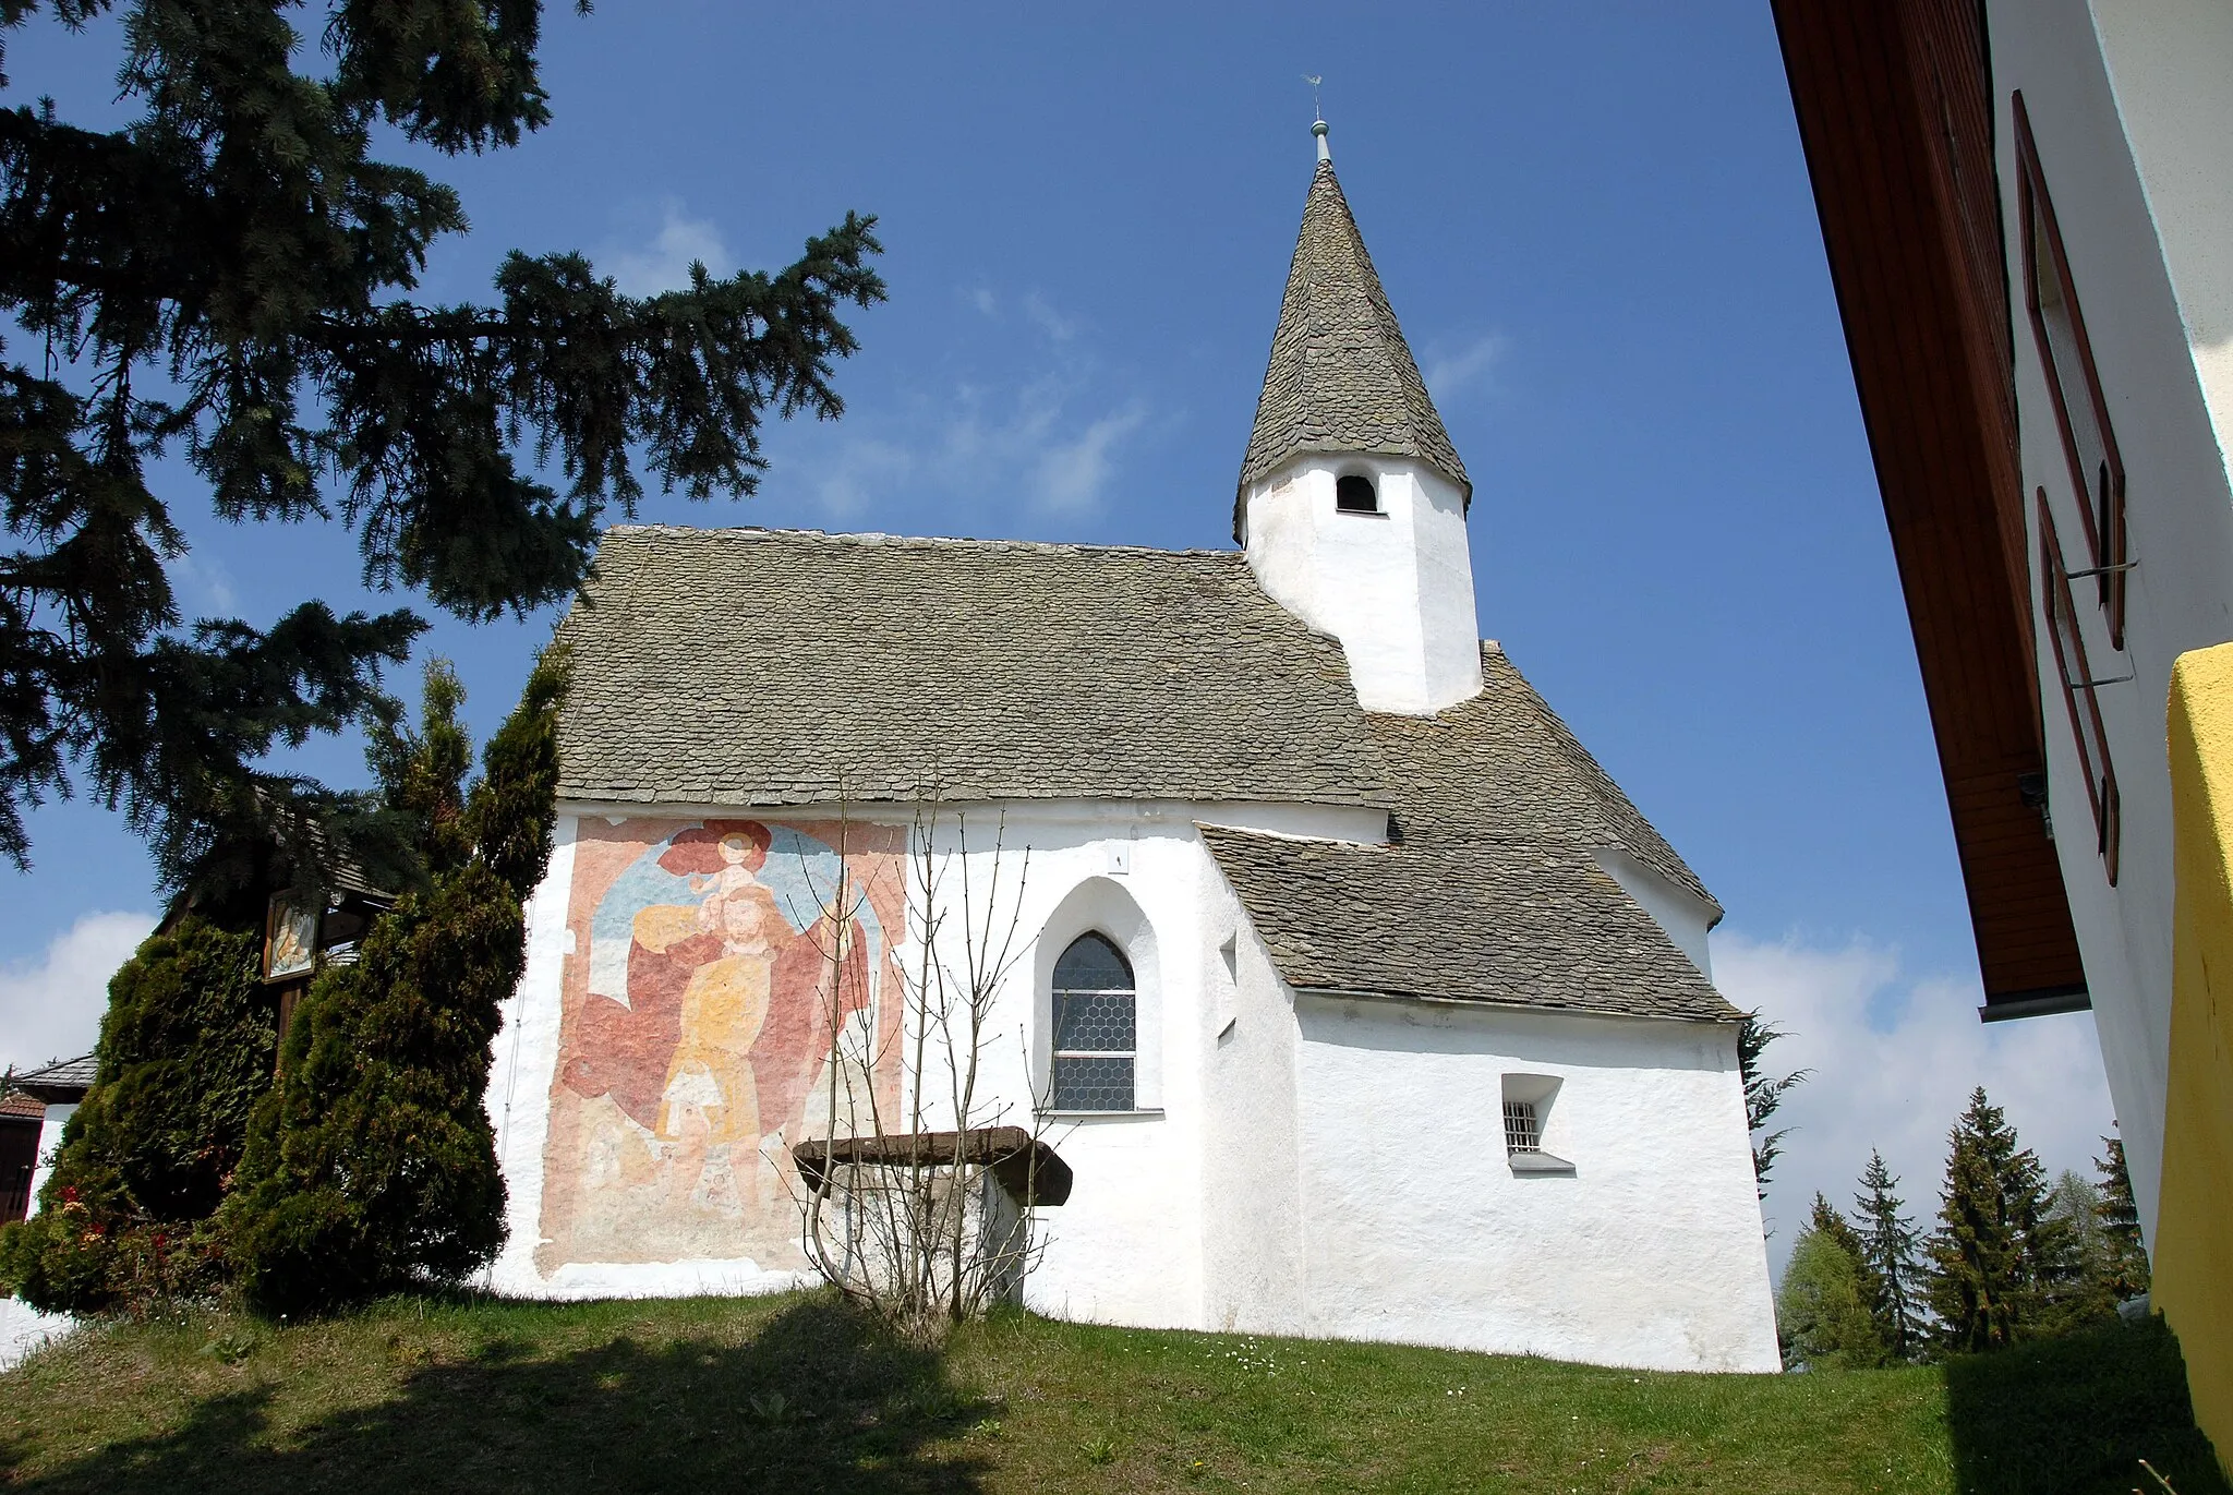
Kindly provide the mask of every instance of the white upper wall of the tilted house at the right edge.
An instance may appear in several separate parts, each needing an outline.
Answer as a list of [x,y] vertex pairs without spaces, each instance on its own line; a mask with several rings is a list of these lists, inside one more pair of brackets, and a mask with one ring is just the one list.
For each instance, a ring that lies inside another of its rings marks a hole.
[[[2233,11],[2164,0],[1992,0],[1999,177],[2014,315],[2016,411],[2050,813],[2086,961],[2095,1026],[2153,1238],[2170,1032],[2170,666],[2233,637],[2233,487],[2226,375],[2233,335]],[[2014,112],[2023,92],[2126,467],[2126,648],[2108,644],[2095,585],[2072,594],[2099,686],[2124,825],[2110,887],[2045,628],[2034,494],[2066,561],[2090,565],[2048,373],[2023,304]]]

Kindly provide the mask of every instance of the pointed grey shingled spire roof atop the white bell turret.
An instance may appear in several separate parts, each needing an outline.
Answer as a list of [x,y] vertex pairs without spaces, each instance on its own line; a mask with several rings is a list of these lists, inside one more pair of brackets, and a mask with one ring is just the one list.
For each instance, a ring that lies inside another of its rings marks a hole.
[[1302,208],[1280,331],[1242,460],[1235,541],[1248,485],[1304,451],[1411,456],[1456,483],[1467,505],[1474,501],[1474,483],[1396,326],[1333,161],[1324,159]]

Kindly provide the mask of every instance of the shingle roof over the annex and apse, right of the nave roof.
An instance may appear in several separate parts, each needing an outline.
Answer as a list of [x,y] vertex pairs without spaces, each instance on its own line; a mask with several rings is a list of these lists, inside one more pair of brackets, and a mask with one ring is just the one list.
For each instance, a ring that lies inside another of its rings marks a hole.
[[1300,990],[1630,1017],[1737,1010],[1597,863],[1621,847],[1715,910],[1494,644],[1487,688],[1438,717],[1373,715],[1400,840],[1358,847],[1204,827]]

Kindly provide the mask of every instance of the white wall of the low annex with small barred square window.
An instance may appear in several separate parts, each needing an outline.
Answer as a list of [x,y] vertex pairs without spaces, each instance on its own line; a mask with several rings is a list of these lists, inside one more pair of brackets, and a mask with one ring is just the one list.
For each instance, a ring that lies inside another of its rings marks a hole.
[[[1735,1028],[1302,994],[1309,1330],[1780,1368]],[[1547,1077],[1514,1173],[1503,1077]]]

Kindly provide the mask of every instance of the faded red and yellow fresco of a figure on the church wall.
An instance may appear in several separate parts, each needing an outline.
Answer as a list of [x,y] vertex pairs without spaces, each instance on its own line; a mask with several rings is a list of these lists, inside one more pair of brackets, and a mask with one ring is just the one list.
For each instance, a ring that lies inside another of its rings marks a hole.
[[[898,1099],[904,849],[902,827],[835,820],[581,822],[540,1272],[804,1269],[788,1144],[864,1106],[862,1084]],[[878,1055],[873,1079],[831,1075],[833,1030]]]

